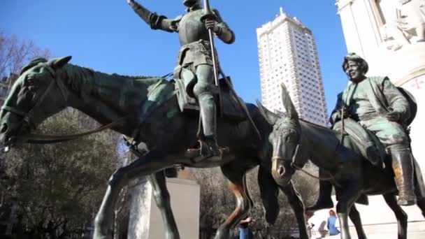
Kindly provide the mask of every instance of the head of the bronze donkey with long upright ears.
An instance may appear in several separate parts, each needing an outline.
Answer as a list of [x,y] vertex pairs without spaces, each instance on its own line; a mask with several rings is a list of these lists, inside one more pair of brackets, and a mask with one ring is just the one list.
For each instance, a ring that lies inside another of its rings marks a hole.
[[298,113],[284,85],[282,85],[282,102],[286,110],[282,117],[270,112],[261,104],[259,108],[268,123],[273,125],[273,131],[268,136],[268,141],[273,147],[271,159],[273,178],[280,184],[287,184],[295,172],[292,163],[298,152],[301,127]]

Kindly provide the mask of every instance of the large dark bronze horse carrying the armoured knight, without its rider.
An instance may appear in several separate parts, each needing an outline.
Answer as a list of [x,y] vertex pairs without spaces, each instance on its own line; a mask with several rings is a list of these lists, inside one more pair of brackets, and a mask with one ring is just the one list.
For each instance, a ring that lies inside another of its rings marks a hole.
[[252,207],[245,173],[255,166],[260,166],[259,187],[266,220],[273,224],[278,217],[277,196],[281,189],[295,212],[301,238],[308,238],[301,197],[291,182],[278,184],[271,175],[272,147],[266,139],[272,126],[256,106],[246,104],[261,132],[261,139],[250,122],[219,118],[219,144],[228,146],[229,153],[219,162],[196,162],[187,159],[185,151],[196,143],[199,116],[180,112],[172,82],[164,78],[100,73],[68,64],[70,59],[34,59],[22,68],[1,110],[0,140],[10,147],[25,140],[34,143],[36,140],[31,139],[30,131],[66,107],[76,108],[101,124],[122,120],[112,129],[125,136],[138,133],[137,138],[147,145],[148,152],[111,176],[96,215],[94,238],[112,238],[113,212],[120,190],[130,180],[147,175],[150,175],[155,200],[164,219],[166,238],[180,238],[162,171],[176,164],[197,168],[220,166],[228,179],[237,198],[236,209],[219,227],[215,238],[229,238],[230,229]]

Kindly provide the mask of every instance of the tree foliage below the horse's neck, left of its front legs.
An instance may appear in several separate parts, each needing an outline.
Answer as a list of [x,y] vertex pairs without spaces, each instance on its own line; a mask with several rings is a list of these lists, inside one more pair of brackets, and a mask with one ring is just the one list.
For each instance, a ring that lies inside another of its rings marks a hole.
[[[39,126],[38,133],[87,130],[87,124],[79,123],[80,115],[64,110]],[[31,238],[81,235],[99,209],[108,178],[120,165],[117,137],[103,131],[67,143],[22,145],[6,154],[0,187],[17,205],[14,229]]]

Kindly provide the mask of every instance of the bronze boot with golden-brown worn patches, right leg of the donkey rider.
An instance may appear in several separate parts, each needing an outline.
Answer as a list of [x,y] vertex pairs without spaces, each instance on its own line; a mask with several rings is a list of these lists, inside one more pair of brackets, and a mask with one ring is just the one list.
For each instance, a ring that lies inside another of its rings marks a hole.
[[413,157],[406,145],[389,146],[394,178],[398,188],[398,205],[416,204]]

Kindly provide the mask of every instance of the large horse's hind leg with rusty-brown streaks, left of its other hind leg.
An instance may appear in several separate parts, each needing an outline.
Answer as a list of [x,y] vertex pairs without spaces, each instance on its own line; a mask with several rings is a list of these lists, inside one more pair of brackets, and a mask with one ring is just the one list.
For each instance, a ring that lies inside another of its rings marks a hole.
[[252,208],[253,203],[246,187],[246,171],[246,168],[236,167],[233,164],[222,166],[222,172],[229,181],[229,189],[236,196],[236,208],[226,219],[226,222],[219,227],[215,234],[215,239],[229,239],[230,229],[238,225],[240,220],[246,217]]

